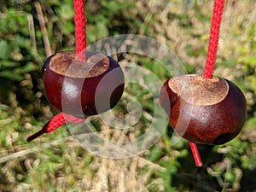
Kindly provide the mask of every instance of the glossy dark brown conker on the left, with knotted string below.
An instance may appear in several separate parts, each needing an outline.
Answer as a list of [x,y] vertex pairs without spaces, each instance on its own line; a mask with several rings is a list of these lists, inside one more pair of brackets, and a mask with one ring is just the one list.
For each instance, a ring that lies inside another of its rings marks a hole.
[[[108,81],[104,80],[106,76]],[[43,79],[45,95],[54,108],[74,116],[90,116],[119,102],[125,78],[112,57],[86,52],[86,61],[82,62],[76,60],[74,51],[62,51],[44,62]],[[100,108],[96,108],[96,91],[104,101]]]

